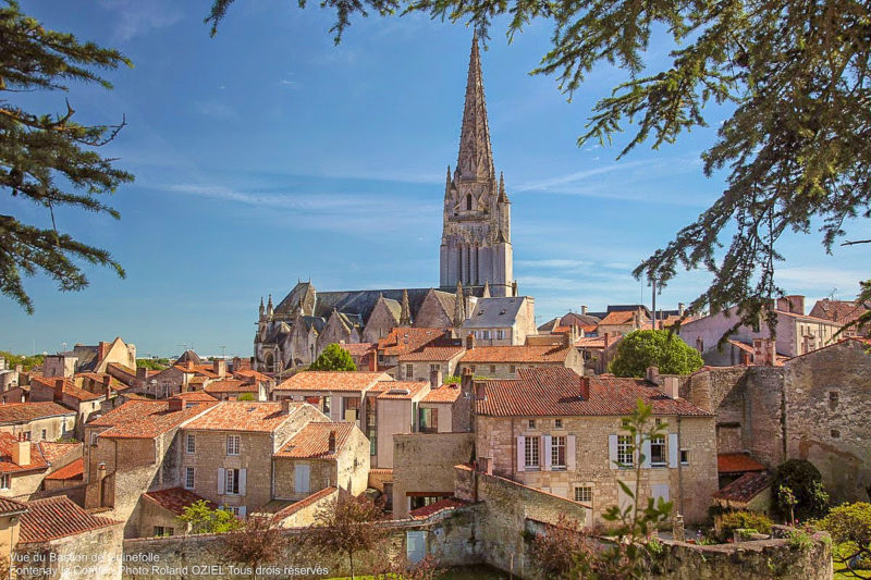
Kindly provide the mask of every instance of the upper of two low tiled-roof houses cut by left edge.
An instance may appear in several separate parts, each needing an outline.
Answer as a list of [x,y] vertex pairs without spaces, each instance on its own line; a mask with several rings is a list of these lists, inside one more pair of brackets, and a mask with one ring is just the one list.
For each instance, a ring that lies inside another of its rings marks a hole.
[[0,405],[0,432],[22,434],[26,441],[57,441],[72,436],[76,414],[53,400]]

